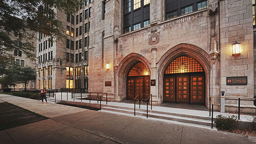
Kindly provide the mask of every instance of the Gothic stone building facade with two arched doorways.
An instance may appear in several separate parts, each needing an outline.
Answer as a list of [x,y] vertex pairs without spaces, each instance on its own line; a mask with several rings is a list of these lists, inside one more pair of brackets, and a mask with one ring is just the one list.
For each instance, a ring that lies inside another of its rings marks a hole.
[[[254,97],[252,0],[86,3],[74,15],[75,21],[82,17],[78,24],[70,24],[67,14],[57,12],[64,27],[74,28],[74,35],[81,26],[82,34],[69,39],[74,43],[81,39],[81,49],[67,48],[66,39],[54,42],[47,50],[53,51],[53,58],[38,64],[40,71],[53,65],[53,74],[38,76],[40,83],[51,78],[53,89],[80,87],[89,92],[108,92],[111,101],[151,93],[154,105],[173,102],[209,107],[209,97],[221,96],[222,92],[232,98],[214,98],[219,105],[215,109],[225,105],[226,111],[237,111],[238,100],[233,97]],[[232,54],[236,41],[240,43],[240,53]],[[77,63],[70,61],[70,54],[69,61],[66,58],[67,53],[72,53],[76,59],[80,52],[81,61]],[[42,52],[37,53],[41,55]],[[73,73],[80,67],[81,75],[67,76],[67,67],[73,67]],[[73,87],[67,86],[67,79],[73,79]],[[241,107],[244,112],[255,112],[256,108],[253,99],[243,99]]]

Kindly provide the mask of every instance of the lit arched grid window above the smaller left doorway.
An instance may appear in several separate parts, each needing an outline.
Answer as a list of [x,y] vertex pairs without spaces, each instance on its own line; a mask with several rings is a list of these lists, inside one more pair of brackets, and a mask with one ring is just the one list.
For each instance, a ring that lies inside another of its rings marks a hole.
[[138,62],[131,68],[128,77],[131,76],[149,76],[148,68],[142,62]]

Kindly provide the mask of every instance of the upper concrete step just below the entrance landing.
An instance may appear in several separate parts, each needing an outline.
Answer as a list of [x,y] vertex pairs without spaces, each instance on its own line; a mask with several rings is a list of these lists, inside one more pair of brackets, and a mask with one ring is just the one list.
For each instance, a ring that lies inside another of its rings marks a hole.
[[[124,106],[104,105],[102,107],[112,107],[112,108],[120,108],[120,109],[134,111],[134,108],[124,107]],[[138,106],[136,106],[136,111],[147,112],[146,109],[143,109],[143,108],[139,109]],[[169,111],[156,111],[156,110],[154,110],[154,107],[153,107],[153,110],[151,110],[150,106],[148,106],[148,112],[158,113],[158,114],[165,114],[165,115],[173,115],[173,116],[178,116],[178,117],[199,118],[199,119],[203,119],[203,120],[211,120],[211,117],[208,117],[208,116],[198,116],[198,115],[193,115],[193,114],[182,114],[182,113],[178,113],[178,112],[169,112]]]

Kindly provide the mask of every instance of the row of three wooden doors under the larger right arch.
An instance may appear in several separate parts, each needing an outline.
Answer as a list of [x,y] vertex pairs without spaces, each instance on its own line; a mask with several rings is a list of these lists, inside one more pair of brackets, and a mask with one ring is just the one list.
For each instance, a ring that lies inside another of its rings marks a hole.
[[164,102],[205,103],[204,75],[174,75],[164,78]]

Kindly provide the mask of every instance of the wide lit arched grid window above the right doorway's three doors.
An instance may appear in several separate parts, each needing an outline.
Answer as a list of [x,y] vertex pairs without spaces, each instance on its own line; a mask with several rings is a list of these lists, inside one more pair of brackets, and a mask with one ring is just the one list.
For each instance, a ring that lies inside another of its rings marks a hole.
[[204,70],[202,65],[188,56],[181,56],[174,59],[165,70],[165,74],[186,72],[204,72]]

